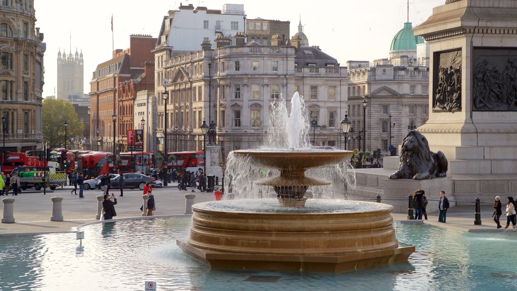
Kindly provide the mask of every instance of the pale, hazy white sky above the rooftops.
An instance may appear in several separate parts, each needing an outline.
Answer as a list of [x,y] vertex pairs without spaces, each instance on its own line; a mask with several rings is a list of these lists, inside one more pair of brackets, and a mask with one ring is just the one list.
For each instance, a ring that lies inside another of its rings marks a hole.
[[55,95],[59,49],[67,54],[70,50],[75,53],[76,49],[83,52],[84,93],[88,93],[92,72],[98,64],[111,59],[113,47],[128,48],[131,34],[158,37],[163,17],[180,3],[208,9],[244,4],[247,19],[290,21],[291,36],[298,32],[301,19],[309,45],[319,46],[341,66],[346,66],[350,60],[387,58],[391,40],[402,29],[408,14],[409,22],[415,27],[431,16],[433,7],[445,4],[445,0],[409,0],[407,13],[407,1],[319,0],[307,5],[292,0],[34,0],[36,27],[40,27],[43,42],[47,43],[43,97]]

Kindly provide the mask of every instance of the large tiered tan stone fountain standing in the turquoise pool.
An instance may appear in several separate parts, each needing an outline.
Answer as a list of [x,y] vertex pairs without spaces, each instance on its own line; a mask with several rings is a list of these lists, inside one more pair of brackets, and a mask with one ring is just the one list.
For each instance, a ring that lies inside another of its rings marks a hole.
[[273,104],[282,113],[272,114],[275,147],[231,153],[246,165],[278,169],[280,176],[254,182],[272,186],[277,199],[197,203],[190,237],[177,244],[213,268],[340,272],[407,261],[415,248],[396,239],[392,206],[305,197],[309,186],[330,184],[306,177],[306,169],[340,164],[352,152],[310,149],[303,98],[296,92],[291,104],[288,120],[279,120],[287,117],[282,102]]

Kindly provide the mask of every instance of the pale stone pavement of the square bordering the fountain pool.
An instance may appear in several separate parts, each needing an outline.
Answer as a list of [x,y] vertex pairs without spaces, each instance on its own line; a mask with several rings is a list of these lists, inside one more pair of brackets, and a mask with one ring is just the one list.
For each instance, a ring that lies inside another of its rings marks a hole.
[[[185,194],[195,194],[195,202],[215,200],[214,194],[200,192],[195,193],[180,191],[176,187],[177,183],[169,184],[163,188],[154,188],[153,195],[156,201],[155,215],[175,215],[185,212]],[[101,190],[85,190],[84,198],[70,193],[71,186],[57,188],[53,192],[43,195],[42,192],[24,191],[18,196],[9,195],[14,198],[14,223],[0,223],[0,235],[21,234],[28,232],[55,232],[55,231],[74,231],[75,228],[83,224],[98,221],[96,219],[98,202],[96,196],[102,195]],[[11,192],[12,193],[12,192]],[[124,197],[118,197],[119,191],[113,190],[117,197],[116,219],[141,217],[140,206],[142,205],[143,191],[139,189],[124,190]],[[79,194],[79,191],[78,191]],[[52,216],[51,198],[63,197],[63,222],[50,220]],[[1,198],[6,198],[1,196]],[[447,211],[447,223],[438,222],[438,213],[428,213],[428,220],[422,221],[432,225],[455,228],[462,231],[503,231],[504,228],[496,229],[495,222],[492,220],[493,208],[491,205],[481,206],[481,225],[474,225],[474,205],[452,207]],[[2,217],[4,214],[2,206]],[[395,221],[406,221],[407,213],[393,213]],[[501,224],[506,224],[506,216],[501,216]],[[511,226],[510,226],[511,227]]]

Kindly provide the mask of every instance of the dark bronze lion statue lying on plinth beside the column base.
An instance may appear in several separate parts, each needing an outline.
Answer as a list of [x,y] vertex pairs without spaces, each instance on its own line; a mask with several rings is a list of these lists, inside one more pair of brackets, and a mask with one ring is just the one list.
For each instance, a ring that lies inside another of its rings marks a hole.
[[444,153],[431,152],[427,139],[417,130],[407,133],[400,151],[399,169],[389,179],[425,180],[447,176]]

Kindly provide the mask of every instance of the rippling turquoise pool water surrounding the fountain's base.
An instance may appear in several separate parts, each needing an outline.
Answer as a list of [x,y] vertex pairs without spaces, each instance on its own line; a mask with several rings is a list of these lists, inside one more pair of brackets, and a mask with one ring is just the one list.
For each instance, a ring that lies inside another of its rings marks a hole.
[[468,234],[402,225],[416,245],[409,264],[341,274],[210,270],[185,255],[190,217],[118,221],[74,233],[0,236],[2,290],[511,290],[517,288],[517,232]]

